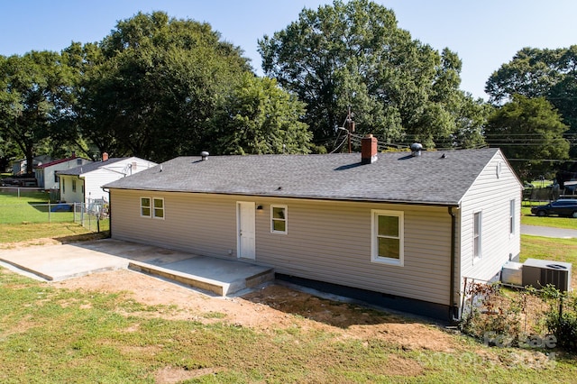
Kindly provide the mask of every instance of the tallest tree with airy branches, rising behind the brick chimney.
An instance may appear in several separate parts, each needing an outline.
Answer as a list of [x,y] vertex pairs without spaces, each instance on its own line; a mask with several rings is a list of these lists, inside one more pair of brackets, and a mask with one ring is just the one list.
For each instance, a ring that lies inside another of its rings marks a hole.
[[307,104],[316,142],[334,138],[350,105],[361,133],[435,146],[456,131],[461,60],[413,40],[369,0],[304,9],[259,41],[265,74]]

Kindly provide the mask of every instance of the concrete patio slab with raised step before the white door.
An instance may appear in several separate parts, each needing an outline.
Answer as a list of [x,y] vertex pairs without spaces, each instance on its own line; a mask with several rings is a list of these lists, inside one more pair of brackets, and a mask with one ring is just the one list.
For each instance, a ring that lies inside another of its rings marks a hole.
[[0,251],[0,261],[49,281],[131,269],[226,296],[274,279],[252,263],[113,239]]

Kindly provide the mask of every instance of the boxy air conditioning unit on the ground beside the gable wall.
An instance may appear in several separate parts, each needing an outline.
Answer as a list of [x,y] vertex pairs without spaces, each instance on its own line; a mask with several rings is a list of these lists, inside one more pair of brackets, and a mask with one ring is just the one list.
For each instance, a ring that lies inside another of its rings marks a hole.
[[523,285],[542,288],[547,284],[563,292],[571,290],[571,263],[527,259],[523,263]]

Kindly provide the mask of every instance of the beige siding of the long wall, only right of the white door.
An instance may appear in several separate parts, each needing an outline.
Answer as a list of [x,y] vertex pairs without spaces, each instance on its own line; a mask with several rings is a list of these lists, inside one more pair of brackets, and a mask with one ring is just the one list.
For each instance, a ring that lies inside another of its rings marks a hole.
[[[259,200],[259,204],[263,201]],[[263,233],[257,261],[279,273],[390,295],[448,303],[450,216],[446,208],[276,200],[289,206],[289,234]],[[270,205],[264,205],[264,215]],[[371,209],[405,213],[403,267],[371,262]]]

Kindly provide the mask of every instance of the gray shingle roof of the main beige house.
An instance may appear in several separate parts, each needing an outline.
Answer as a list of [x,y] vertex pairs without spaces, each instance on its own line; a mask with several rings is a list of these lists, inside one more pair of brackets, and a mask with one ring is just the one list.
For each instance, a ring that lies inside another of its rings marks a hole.
[[179,157],[105,187],[457,205],[498,151]]

